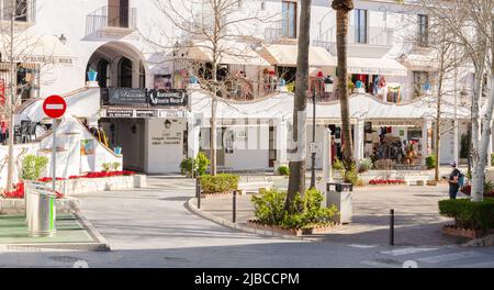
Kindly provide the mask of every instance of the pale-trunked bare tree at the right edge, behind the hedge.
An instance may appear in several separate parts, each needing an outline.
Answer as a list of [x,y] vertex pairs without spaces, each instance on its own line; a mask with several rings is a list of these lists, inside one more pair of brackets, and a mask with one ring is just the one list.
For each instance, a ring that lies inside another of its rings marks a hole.
[[[490,143],[494,94],[482,98],[484,77],[493,78],[493,11],[492,0],[435,1],[427,11],[439,15],[444,25],[458,41],[473,64],[475,78],[472,94],[472,199],[483,200],[487,147]],[[489,69],[491,67],[491,69]],[[483,103],[483,108],[482,108]]]

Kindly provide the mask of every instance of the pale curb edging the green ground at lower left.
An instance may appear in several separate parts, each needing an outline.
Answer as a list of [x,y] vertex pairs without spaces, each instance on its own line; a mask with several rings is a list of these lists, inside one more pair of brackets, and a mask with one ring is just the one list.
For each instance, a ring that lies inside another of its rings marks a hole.
[[40,248],[52,248],[52,249],[74,249],[74,250],[86,250],[86,252],[110,252],[110,244],[106,239],[98,232],[98,230],[86,219],[83,215],[77,212],[72,212],[76,219],[81,223],[82,227],[89,233],[89,235],[96,239],[93,243],[35,243],[35,244],[4,244],[5,248],[13,249],[40,249]]

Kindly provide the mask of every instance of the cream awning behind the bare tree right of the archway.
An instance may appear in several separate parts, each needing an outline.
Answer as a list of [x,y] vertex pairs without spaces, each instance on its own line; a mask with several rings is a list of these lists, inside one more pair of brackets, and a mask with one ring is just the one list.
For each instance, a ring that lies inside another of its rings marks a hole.
[[[211,42],[194,42],[190,47],[182,48],[184,58],[202,62],[213,60]],[[270,66],[249,43],[222,41],[218,44],[220,64]]]

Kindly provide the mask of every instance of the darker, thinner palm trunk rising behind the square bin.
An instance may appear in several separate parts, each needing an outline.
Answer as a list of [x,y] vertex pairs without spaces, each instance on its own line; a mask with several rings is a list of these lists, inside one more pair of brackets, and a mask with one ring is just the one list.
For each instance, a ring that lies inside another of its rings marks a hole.
[[345,168],[350,170],[353,164],[353,145],[351,141],[350,107],[348,96],[347,72],[347,37],[348,37],[348,10],[336,11],[336,46],[338,51],[338,90],[341,110],[341,132],[344,142]]

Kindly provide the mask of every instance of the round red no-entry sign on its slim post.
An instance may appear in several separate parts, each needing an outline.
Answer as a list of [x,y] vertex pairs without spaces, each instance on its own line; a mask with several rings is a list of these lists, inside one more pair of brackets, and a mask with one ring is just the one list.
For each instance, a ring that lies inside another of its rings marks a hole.
[[53,120],[52,134],[53,134],[53,146],[52,146],[52,189],[53,193],[56,192],[56,181],[57,181],[57,129],[60,122],[59,118],[65,114],[67,110],[67,103],[64,98],[59,96],[50,96],[46,98],[43,102],[43,111],[45,114]]

